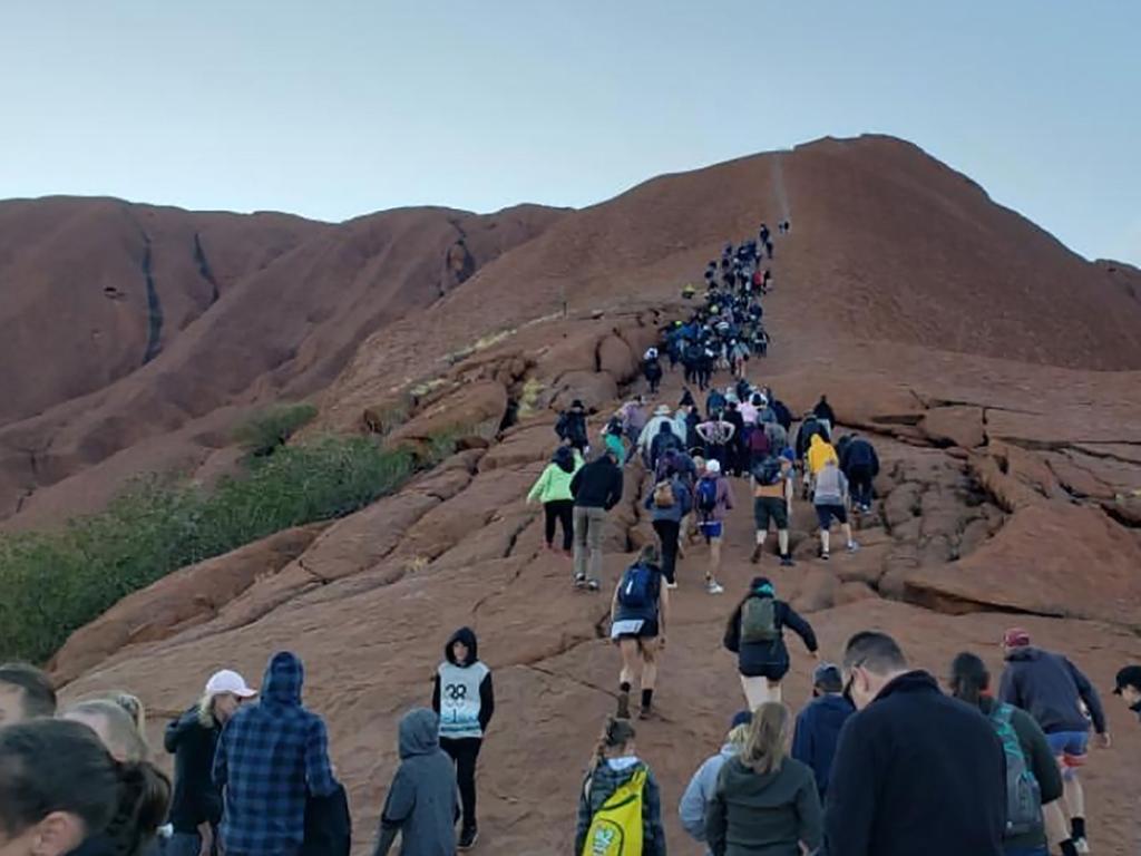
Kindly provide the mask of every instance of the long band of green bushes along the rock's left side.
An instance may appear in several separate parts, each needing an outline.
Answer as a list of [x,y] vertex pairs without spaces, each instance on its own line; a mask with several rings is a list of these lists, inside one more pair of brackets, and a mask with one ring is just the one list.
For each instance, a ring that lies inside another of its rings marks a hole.
[[42,662],[78,628],[171,571],[290,526],[351,514],[398,490],[427,458],[369,437],[325,437],[249,461],[212,491],[147,478],[59,532],[0,535],[0,661]]

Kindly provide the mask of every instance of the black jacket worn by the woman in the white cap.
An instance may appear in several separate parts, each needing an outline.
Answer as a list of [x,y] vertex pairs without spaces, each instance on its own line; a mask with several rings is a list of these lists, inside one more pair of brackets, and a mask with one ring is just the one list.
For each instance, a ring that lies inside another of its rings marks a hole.
[[175,790],[170,824],[175,832],[197,832],[203,823],[221,823],[221,792],[215,786],[215,750],[221,727],[203,727],[197,705],[167,726],[163,745],[175,756]]

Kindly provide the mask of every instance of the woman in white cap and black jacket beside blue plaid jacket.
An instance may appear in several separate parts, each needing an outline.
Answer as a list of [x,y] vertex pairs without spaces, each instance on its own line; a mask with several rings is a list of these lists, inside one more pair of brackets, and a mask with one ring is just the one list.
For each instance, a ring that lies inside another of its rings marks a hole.
[[242,703],[254,695],[257,691],[241,675],[224,669],[210,676],[194,706],[167,726],[163,745],[175,756],[175,793],[165,856],[213,851],[221,824],[221,792],[211,778],[218,737]]

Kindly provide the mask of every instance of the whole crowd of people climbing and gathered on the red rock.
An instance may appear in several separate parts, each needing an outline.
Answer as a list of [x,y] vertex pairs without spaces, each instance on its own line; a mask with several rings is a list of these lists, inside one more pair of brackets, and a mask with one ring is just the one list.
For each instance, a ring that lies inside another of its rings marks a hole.
[[[785,220],[776,234],[790,229]],[[576,797],[567,835],[575,856],[666,854],[666,797],[639,754],[633,719],[657,718],[680,559],[704,541],[703,588],[723,593],[726,524],[742,491],[752,499],[753,564],[775,530],[776,556],[793,566],[796,501],[811,504],[818,560],[831,556],[833,524],[857,550],[850,517],[873,508],[873,444],[841,431],[824,396],[794,430],[774,390],[748,381],[750,360],[769,344],[761,304],[772,276],[762,263],[774,259],[774,237],[762,225],[710,263],[703,304],[644,355],[649,398],[623,404],[593,441],[581,401],[559,415],[558,450],[527,495],[543,506],[545,550],[569,560],[575,588],[598,591],[625,468],[648,475],[640,506],[654,540],[610,596],[617,702]],[[677,406],[652,405],[679,363],[703,401],[687,386]],[[720,372],[730,372],[725,387],[714,385]],[[758,575],[728,611],[722,644],[736,659],[744,708],[680,794],[678,818],[695,846],[714,856],[1090,851],[1079,770],[1090,732],[1104,748],[1110,737],[1077,665],[1020,628],[1002,637],[997,680],[962,652],[940,687],[877,631],[856,633],[837,662],[825,662],[809,621],[778,593],[771,576]],[[782,687],[786,630],[816,660],[812,698],[795,716]],[[201,697],[165,729],[171,780],[147,743],[138,698],[111,693],[57,710],[43,672],[0,665],[0,856],[348,856],[348,800],[325,724],[302,702],[300,659],[274,654],[258,688],[233,670],[204,677]],[[1114,693],[1141,718],[1141,665],[1123,668]],[[402,856],[451,856],[479,838],[477,767],[495,694],[470,628],[446,639],[424,701],[399,720],[375,856],[397,841]]]

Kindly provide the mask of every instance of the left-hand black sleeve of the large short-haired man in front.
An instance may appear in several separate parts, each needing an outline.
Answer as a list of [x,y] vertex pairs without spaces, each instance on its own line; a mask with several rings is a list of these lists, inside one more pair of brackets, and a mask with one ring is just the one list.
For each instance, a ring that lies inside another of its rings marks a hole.
[[836,756],[828,774],[828,806],[824,813],[824,840],[828,856],[875,856],[872,824],[882,782],[871,735],[863,732],[863,717],[849,717],[840,730]]

